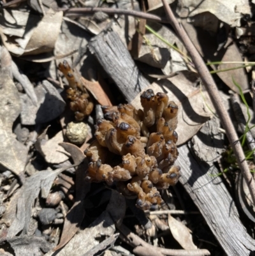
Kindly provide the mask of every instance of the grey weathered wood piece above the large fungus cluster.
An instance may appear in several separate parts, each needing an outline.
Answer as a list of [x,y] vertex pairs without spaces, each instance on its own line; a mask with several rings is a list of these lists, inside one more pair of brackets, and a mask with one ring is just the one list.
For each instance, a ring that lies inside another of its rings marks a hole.
[[90,41],[89,50],[97,57],[128,102],[149,86],[149,81],[140,73],[117,33],[103,31],[98,34]]

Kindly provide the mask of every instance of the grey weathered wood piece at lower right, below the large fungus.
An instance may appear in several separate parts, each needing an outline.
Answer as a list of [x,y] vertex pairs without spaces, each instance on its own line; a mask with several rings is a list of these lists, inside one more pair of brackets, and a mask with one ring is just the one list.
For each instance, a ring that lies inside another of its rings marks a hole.
[[179,147],[180,183],[184,185],[200,209],[208,226],[227,255],[248,256],[255,250],[255,240],[240,222],[237,208],[230,193],[217,174],[216,167],[198,163],[187,145]]

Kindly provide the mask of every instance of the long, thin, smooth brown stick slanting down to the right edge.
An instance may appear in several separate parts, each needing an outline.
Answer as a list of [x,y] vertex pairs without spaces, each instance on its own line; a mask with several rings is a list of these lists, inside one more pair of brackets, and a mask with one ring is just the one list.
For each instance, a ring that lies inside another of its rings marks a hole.
[[237,132],[235,131],[233,123],[231,122],[230,116],[228,116],[228,112],[224,108],[224,105],[222,103],[223,101],[221,100],[221,96],[219,95],[217,86],[212,79],[212,76],[210,75],[207,66],[203,62],[202,57],[198,53],[198,50],[196,50],[196,47],[194,47],[186,31],[182,27],[182,24],[180,24],[180,22],[178,22],[175,18],[170,6],[168,5],[168,3],[166,3],[166,0],[162,0],[162,2],[164,5],[164,10],[166,11],[166,17],[168,18],[171,26],[173,26],[173,28],[175,29],[175,32],[180,36],[180,39],[182,40],[184,46],[187,49],[187,52],[189,52],[189,56],[191,56],[191,59],[193,59],[196,70],[198,70],[201,80],[207,88],[208,94],[210,95],[212,103],[214,103],[215,110],[217,111],[217,114],[221,119],[223,128],[226,130],[226,135],[228,137],[228,140],[230,140],[231,147],[233,148],[238,165],[242,170],[242,174],[249,188],[249,192],[251,193],[253,204],[255,205],[255,182],[252,178],[248,164],[245,160],[244,151],[242,149],[240,141],[238,140]]

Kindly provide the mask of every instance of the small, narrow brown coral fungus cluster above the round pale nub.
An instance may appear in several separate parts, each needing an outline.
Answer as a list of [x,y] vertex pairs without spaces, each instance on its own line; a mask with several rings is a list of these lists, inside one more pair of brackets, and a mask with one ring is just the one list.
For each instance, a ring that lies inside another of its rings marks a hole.
[[71,100],[70,108],[75,112],[75,119],[82,121],[85,116],[91,114],[94,104],[87,93],[87,90],[80,82],[80,79],[75,77],[75,73],[69,66],[67,61],[59,63],[59,70],[68,80],[69,88],[66,90],[67,98]]

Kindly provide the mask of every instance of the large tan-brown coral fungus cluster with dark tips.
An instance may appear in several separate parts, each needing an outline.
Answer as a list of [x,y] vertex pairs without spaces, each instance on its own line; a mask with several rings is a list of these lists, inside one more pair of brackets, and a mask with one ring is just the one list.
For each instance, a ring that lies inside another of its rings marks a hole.
[[105,117],[96,125],[96,141],[85,151],[91,160],[87,181],[105,181],[124,195],[136,194],[136,206],[161,204],[157,188],[177,183],[178,107],[164,93],[148,89],[141,95],[143,110],[131,104],[103,107]]

